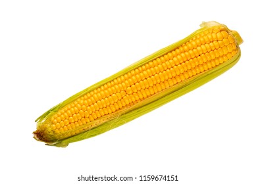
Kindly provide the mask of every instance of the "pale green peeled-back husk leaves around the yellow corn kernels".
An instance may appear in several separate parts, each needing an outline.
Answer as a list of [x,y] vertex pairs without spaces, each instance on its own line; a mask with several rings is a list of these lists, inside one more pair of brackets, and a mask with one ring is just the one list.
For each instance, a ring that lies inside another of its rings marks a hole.
[[[97,89],[101,85],[113,81],[119,76],[122,76],[131,70],[134,70],[140,66],[143,66],[147,62],[150,62],[151,60],[154,60],[155,58],[161,57],[165,55],[166,53],[176,49],[180,45],[186,43],[192,37],[201,34],[205,30],[209,28],[213,28],[215,26],[224,26],[227,30],[228,28],[223,25],[219,24],[218,22],[203,22],[201,25],[201,28],[195,32],[193,32],[191,35],[188,37],[185,37],[184,39],[169,45],[168,47],[165,47],[152,55],[149,55],[148,57],[145,57],[138,62],[135,62],[134,64],[128,66],[127,68],[124,68],[120,72],[117,72],[113,76],[110,76],[109,78],[106,78],[105,80],[99,81],[98,83],[95,83],[94,85],[91,85],[87,89],[84,89],[83,91],[80,91],[76,95],[73,95],[72,97],[66,99],[66,101],[63,101],[60,104],[57,104],[57,106],[54,106],[44,114],[42,114],[37,120],[38,127],[40,127],[41,124],[44,124],[45,120],[47,118],[51,118],[54,114],[58,112],[59,109],[63,108],[66,106],[66,104],[71,103],[72,101],[75,101],[79,97],[82,97],[86,95],[86,93],[89,93],[90,91],[93,91],[94,89]],[[240,45],[243,40],[236,31],[231,31],[229,30],[229,33],[232,34],[236,38],[237,45]],[[223,62],[222,64],[216,66],[215,68],[212,68],[210,70],[207,70],[201,74],[198,74],[196,76],[193,76],[192,78],[188,80],[184,80],[168,89],[165,89],[143,101],[140,103],[134,104],[130,108],[127,108],[126,110],[122,111],[116,111],[115,113],[111,115],[105,115],[99,118],[97,121],[103,122],[97,127],[94,127],[90,129],[89,131],[85,131],[82,133],[79,133],[78,135],[74,135],[72,137],[68,137],[66,139],[60,139],[60,140],[49,140],[49,141],[44,141],[47,145],[53,145],[55,147],[66,147],[69,143],[76,142],[76,141],[81,141],[83,139],[88,139],[90,137],[94,137],[96,135],[99,135],[101,133],[104,133],[105,131],[109,131],[115,127],[122,126],[123,124],[126,124],[127,122],[130,122],[131,120],[134,120],[135,118],[138,118],[139,116],[142,116],[143,114],[146,114],[147,112],[151,112],[155,108],[158,108],[159,106],[162,106],[163,104],[166,104],[190,91],[193,89],[196,89],[197,87],[207,83],[210,80],[213,80],[220,74],[226,72],[226,70],[230,69],[232,66],[238,62],[241,56],[241,51],[240,48],[238,47],[238,53],[232,57],[230,60]],[[37,139],[38,141],[41,141],[36,133],[34,133],[34,138]]]

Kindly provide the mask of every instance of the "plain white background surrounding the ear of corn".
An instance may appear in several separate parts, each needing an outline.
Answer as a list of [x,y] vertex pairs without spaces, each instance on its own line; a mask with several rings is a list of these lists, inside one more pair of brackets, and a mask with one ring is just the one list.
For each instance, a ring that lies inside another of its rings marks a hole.
[[[0,2],[0,183],[111,183],[77,181],[81,174],[256,183],[253,1]],[[209,20],[242,35],[234,68],[65,149],[33,139],[43,112]]]

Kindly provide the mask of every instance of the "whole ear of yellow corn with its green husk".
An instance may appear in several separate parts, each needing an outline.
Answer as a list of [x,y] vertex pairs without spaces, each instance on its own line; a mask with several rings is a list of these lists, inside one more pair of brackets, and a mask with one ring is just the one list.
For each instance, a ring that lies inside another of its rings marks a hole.
[[217,22],[95,83],[41,115],[34,138],[66,147],[192,91],[238,62],[243,40]]

